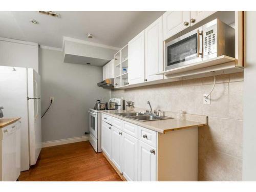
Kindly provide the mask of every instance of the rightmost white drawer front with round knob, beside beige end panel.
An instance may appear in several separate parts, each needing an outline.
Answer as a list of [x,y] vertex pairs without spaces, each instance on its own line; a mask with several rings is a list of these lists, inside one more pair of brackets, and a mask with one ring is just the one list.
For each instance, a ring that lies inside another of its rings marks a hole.
[[157,147],[157,132],[139,126],[139,140]]

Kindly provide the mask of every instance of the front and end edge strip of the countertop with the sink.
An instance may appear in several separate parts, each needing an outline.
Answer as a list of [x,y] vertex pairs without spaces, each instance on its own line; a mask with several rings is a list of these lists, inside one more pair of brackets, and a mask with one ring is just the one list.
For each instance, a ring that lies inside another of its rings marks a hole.
[[[131,119],[129,119],[129,118],[121,117],[121,116],[119,116],[119,115],[115,115],[115,114],[109,113],[109,112],[107,112],[107,111],[101,111],[100,113],[103,113],[103,114],[106,114],[106,115],[110,115],[110,116],[112,116],[112,117],[115,117],[115,118],[118,118],[118,119],[121,119],[121,120],[130,122],[130,123],[136,124],[136,125],[138,125],[138,126],[145,127],[145,128],[147,128],[147,129],[150,129],[150,130],[156,131],[156,132],[158,132],[158,133],[162,133],[162,134],[165,134],[166,132],[170,132],[170,131],[177,131],[177,130],[189,129],[189,128],[195,127],[195,126],[199,127],[199,126],[205,126],[205,125],[207,125],[207,124],[202,123],[202,122],[186,120],[186,121],[193,122],[193,123],[195,123],[195,124],[189,125],[189,126],[184,126],[184,127],[177,127],[177,128],[175,128],[175,129],[173,128],[173,129],[162,130],[162,129],[157,129],[157,127],[145,125],[145,124],[141,123],[140,121],[137,122],[136,120],[131,120]],[[158,121],[161,121],[161,120],[158,120]]]

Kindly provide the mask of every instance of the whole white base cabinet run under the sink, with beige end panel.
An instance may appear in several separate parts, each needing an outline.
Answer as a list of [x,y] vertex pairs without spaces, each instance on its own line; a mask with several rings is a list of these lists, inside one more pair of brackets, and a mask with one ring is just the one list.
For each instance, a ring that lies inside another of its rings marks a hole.
[[102,151],[123,180],[197,181],[198,127],[161,134],[105,114],[101,124]]

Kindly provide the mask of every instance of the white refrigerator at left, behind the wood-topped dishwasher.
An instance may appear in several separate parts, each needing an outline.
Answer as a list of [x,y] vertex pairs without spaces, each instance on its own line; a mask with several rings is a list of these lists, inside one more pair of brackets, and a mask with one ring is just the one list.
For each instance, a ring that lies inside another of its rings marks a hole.
[[36,164],[41,151],[40,75],[33,69],[0,66],[4,118],[21,117],[20,170]]

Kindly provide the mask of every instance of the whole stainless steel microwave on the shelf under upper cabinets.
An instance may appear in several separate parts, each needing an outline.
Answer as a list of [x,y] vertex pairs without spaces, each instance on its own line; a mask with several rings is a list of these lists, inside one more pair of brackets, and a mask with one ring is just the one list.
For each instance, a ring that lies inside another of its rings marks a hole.
[[221,55],[234,57],[234,29],[217,18],[165,44],[165,71]]

